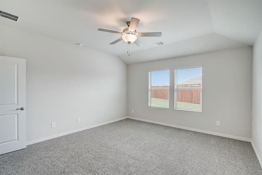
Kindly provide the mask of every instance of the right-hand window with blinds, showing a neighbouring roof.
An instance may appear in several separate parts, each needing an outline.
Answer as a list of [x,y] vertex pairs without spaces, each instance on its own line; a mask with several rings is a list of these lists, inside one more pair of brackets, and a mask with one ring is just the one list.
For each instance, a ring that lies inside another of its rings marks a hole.
[[174,69],[174,108],[202,111],[202,66]]

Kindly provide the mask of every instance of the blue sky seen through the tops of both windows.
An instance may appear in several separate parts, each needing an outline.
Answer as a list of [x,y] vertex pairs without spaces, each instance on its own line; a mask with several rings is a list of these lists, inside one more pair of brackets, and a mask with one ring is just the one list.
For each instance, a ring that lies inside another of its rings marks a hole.
[[[173,73],[173,70],[171,71]],[[169,70],[151,72],[151,86],[169,85]],[[189,75],[190,74],[190,75]],[[178,83],[202,76],[202,67],[178,69]]]

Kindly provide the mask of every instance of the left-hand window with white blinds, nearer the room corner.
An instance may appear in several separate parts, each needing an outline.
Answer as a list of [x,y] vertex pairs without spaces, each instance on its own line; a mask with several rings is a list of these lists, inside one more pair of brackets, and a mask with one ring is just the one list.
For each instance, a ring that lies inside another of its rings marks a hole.
[[148,106],[169,109],[169,69],[148,71]]

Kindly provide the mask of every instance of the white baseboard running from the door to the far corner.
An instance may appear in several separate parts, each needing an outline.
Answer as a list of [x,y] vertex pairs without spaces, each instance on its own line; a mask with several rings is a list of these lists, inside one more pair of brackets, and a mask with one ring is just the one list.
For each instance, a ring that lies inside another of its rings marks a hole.
[[93,127],[97,127],[97,126],[101,126],[101,125],[106,125],[106,124],[108,124],[108,123],[116,122],[116,121],[123,120],[123,119],[126,119],[126,118],[127,118],[127,117],[122,117],[122,118],[118,118],[118,119],[115,119],[115,120],[110,120],[110,121],[108,121],[108,122],[103,122],[103,123],[99,123],[99,124],[92,125],[92,126],[88,126],[88,127],[83,127],[83,128],[79,128],[79,129],[74,129],[74,130],[72,130],[72,131],[63,132],[63,133],[61,133],[61,134],[55,134],[55,135],[48,136],[48,137],[44,137],[44,138],[41,138],[41,139],[36,139],[36,140],[33,140],[33,141],[28,141],[28,142],[26,142],[26,145],[31,145],[31,144],[34,144],[34,143],[38,143],[38,142],[41,142],[41,141],[53,139],[53,138],[56,138],[56,137],[64,136],[64,135],[71,134],[71,133],[78,132],[78,131],[83,131],[83,130],[85,130],[85,129],[89,129],[89,128],[93,128]]

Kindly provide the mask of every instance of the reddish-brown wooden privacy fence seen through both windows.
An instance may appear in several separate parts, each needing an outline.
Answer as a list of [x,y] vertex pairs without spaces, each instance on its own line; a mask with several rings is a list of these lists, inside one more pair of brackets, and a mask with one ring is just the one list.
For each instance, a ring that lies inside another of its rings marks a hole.
[[[177,101],[200,104],[202,85],[178,85]],[[152,86],[151,98],[169,99],[169,86]]]

